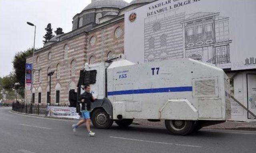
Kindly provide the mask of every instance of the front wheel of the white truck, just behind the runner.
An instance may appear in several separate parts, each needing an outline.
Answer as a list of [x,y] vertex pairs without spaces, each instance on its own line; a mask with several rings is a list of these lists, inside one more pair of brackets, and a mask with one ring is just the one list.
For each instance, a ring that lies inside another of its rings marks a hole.
[[108,129],[112,126],[113,120],[110,120],[108,113],[102,108],[92,112],[92,124],[95,128]]

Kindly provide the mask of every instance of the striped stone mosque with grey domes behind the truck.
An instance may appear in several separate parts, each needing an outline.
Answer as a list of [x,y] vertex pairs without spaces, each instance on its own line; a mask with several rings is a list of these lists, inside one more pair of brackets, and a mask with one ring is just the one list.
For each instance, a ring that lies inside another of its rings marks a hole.
[[[124,13],[153,1],[92,0],[73,17],[72,31],[52,37],[34,52],[34,58],[27,57],[26,63],[33,62],[34,71],[25,101],[68,104],[69,91],[76,91],[85,63],[104,62],[124,53]],[[47,74],[51,71],[50,93]]]

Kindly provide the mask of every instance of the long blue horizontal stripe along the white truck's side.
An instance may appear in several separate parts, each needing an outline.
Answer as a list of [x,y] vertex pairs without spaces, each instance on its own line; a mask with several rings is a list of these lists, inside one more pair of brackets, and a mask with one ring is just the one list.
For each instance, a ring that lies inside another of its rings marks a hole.
[[159,92],[183,92],[183,91],[192,91],[192,86],[111,91],[111,92],[108,92],[108,96],[122,95],[122,94],[148,94],[148,93],[159,93]]

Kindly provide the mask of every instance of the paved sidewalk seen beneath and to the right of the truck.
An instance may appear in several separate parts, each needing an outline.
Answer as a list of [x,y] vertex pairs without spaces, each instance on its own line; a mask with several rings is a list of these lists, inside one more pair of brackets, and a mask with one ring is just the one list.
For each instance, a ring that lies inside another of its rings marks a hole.
[[[161,122],[149,122],[148,120],[134,120],[133,124],[165,127],[164,120],[161,120]],[[204,128],[206,128],[206,129],[236,129],[236,130],[256,131],[256,122],[227,121],[227,122],[224,122],[221,124],[216,124],[213,126],[206,126]]]

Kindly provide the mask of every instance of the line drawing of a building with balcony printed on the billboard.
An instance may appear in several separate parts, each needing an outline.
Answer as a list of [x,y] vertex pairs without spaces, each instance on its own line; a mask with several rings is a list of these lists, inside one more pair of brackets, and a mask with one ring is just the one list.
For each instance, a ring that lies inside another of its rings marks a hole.
[[229,18],[167,12],[144,19],[144,62],[189,57],[230,68]]

